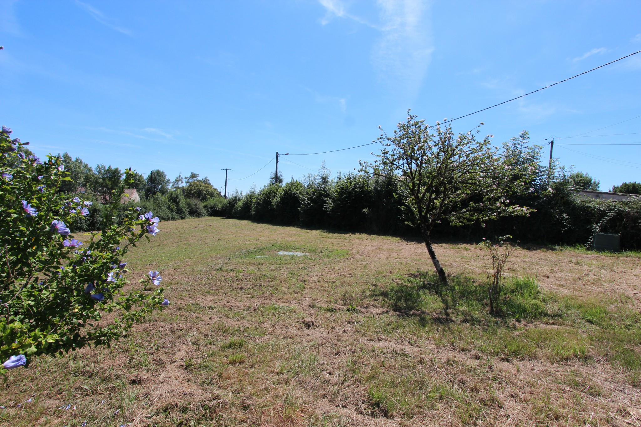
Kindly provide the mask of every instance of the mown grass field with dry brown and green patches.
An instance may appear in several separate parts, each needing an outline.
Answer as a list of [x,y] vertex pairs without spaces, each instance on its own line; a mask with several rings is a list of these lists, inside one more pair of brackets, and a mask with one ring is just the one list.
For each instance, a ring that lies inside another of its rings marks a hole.
[[494,318],[479,246],[435,245],[454,275],[443,289],[419,242],[160,225],[129,280],[162,271],[171,305],[111,349],[10,371],[0,425],[641,423],[638,253],[521,248]]

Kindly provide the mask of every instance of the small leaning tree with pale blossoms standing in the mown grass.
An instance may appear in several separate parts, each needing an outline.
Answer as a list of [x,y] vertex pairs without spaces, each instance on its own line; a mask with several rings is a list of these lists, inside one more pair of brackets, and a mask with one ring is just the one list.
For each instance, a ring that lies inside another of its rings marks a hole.
[[[478,133],[478,130],[476,131]],[[485,222],[501,215],[526,215],[528,208],[510,205],[508,195],[525,191],[527,176],[510,173],[490,136],[477,140],[470,131],[454,135],[438,122],[429,127],[410,114],[394,136],[382,131],[383,144],[374,164],[362,169],[391,177],[406,193],[404,200],[420,227],[434,268],[443,284],[445,270],[437,259],[430,233],[443,220],[451,225]]]

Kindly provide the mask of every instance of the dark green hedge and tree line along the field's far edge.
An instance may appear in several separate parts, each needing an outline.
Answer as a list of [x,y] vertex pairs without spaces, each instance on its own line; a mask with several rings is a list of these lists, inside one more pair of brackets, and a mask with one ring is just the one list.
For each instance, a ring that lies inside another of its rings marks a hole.
[[[32,154],[26,147],[26,155]],[[92,215],[76,225],[76,231],[97,229],[103,205],[117,188],[123,172],[111,165],[92,168],[79,157],[69,153],[59,155],[71,179],[63,182],[60,191],[65,194],[83,193],[93,200]],[[641,202],[604,202],[578,199],[573,191],[598,190],[599,181],[583,172],[572,172],[553,162],[553,170],[542,162],[542,147],[529,145],[527,132],[504,143],[501,150],[504,161],[528,162],[528,188],[522,194],[513,194],[511,204],[533,209],[529,216],[495,218],[454,226],[447,221],[438,223],[433,231],[437,238],[476,239],[510,234],[515,239],[533,243],[565,243],[589,245],[595,231],[622,234],[624,248],[641,248]],[[506,163],[506,165],[508,164]],[[133,186],[140,195],[138,206],[153,211],[163,221],[224,216],[257,222],[321,227],[353,232],[383,234],[419,233],[419,225],[412,218],[407,195],[394,179],[372,175],[365,170],[338,173],[336,177],[323,166],[319,173],[309,173],[301,179],[284,183],[282,174],[272,173],[262,188],[251,188],[246,193],[235,189],[228,198],[222,197],[207,177],[192,172],[180,173],[173,181],[160,169],[147,176],[133,173]],[[638,182],[623,182],[610,191],[641,194]]]

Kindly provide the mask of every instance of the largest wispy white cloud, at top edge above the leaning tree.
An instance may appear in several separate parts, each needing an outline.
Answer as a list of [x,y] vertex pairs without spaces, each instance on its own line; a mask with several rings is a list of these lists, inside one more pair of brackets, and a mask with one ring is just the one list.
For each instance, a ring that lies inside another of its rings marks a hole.
[[434,51],[424,0],[378,0],[379,22],[372,24],[349,13],[340,0],[319,0],[325,25],[334,17],[351,19],[380,32],[372,49],[372,65],[379,80],[395,90],[418,92]]

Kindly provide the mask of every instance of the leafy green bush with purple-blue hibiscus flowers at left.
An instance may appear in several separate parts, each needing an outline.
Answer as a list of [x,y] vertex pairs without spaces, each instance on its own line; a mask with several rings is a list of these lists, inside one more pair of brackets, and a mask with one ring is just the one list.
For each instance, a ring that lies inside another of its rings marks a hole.
[[[63,200],[60,186],[71,181],[59,157],[40,161],[25,156],[11,129],[0,132],[0,373],[28,364],[29,358],[84,346],[109,345],[134,323],[169,301],[159,287],[160,273],[150,271],[144,289],[123,291],[128,281],[129,246],[158,232],[158,218],[140,208],[119,223],[124,186],[112,192],[101,232],[88,241],[69,225],[87,216],[91,202]],[[121,214],[122,215],[122,214]],[[156,286],[149,287],[151,284]],[[112,313],[109,320],[104,314]]]

